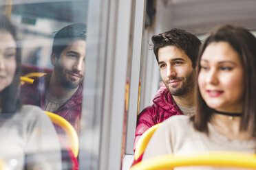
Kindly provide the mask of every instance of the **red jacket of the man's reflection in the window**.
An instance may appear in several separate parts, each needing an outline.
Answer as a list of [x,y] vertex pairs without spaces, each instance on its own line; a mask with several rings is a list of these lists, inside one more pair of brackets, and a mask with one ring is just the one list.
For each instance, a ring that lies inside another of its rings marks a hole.
[[[45,108],[45,89],[49,85],[51,74],[39,77],[33,84],[24,84],[21,86],[21,103],[32,104]],[[76,93],[65,104],[60,106],[54,113],[60,115],[69,121],[76,132],[80,131],[80,119],[82,108],[82,90],[83,83],[79,85]],[[57,132],[63,132],[61,127],[54,125]]]

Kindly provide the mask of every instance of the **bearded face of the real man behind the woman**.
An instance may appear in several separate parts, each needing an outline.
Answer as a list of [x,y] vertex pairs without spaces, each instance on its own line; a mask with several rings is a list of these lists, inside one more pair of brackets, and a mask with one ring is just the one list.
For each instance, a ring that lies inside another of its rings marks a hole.
[[191,93],[195,84],[195,69],[186,53],[173,45],[158,50],[158,65],[162,81],[173,96]]

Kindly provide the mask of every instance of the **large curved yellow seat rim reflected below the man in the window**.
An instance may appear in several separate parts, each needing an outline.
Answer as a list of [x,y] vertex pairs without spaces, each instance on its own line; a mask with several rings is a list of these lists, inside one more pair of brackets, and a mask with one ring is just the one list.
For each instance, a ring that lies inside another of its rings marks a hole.
[[52,112],[44,111],[51,119],[52,123],[59,125],[65,133],[67,134],[67,138],[70,144],[70,148],[72,149],[74,156],[77,158],[78,150],[79,150],[79,141],[76,130],[74,127],[63,117],[59,116],[58,114],[54,114]]

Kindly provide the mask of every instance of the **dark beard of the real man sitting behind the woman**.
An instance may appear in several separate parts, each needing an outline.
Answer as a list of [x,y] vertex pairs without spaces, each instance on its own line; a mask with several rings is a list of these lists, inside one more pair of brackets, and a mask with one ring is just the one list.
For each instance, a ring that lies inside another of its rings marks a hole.
[[181,80],[182,86],[177,88],[169,87],[167,82],[164,82],[165,86],[167,86],[169,92],[173,96],[182,96],[190,93],[193,91],[195,86],[195,71],[191,71],[189,75],[186,75],[186,77],[172,77],[170,80]]

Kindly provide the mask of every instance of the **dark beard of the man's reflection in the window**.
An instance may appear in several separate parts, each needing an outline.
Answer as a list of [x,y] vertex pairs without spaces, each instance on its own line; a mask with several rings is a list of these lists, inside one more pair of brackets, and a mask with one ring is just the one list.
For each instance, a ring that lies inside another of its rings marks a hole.
[[[58,82],[61,84],[61,86],[65,88],[74,89],[74,88],[77,88],[79,84],[81,84],[81,82],[83,82],[83,79],[81,79],[81,81],[79,82],[71,82],[70,80],[67,80],[67,77],[65,76],[65,73],[67,71],[63,69],[63,66],[61,66],[61,64],[56,64],[54,66],[54,72],[55,72],[56,79],[58,79]],[[69,71],[69,72],[75,73],[74,71]]]

